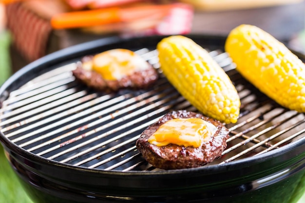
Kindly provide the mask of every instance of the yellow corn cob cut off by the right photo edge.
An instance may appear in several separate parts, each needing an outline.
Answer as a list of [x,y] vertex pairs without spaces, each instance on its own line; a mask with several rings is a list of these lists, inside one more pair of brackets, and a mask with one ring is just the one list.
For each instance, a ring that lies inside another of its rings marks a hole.
[[236,69],[278,104],[305,112],[305,64],[286,46],[253,25],[234,28],[225,44]]

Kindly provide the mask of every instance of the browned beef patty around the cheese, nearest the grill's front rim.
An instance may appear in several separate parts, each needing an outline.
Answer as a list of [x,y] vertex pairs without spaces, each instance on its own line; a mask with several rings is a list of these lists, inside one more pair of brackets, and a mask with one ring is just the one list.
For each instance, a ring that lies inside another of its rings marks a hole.
[[[184,147],[174,144],[158,147],[148,142],[149,137],[165,122],[175,118],[201,118],[217,127],[217,131],[201,147]],[[227,147],[229,130],[219,121],[190,111],[172,111],[145,129],[136,141],[136,147],[152,166],[161,169],[179,169],[204,166],[220,157]]]

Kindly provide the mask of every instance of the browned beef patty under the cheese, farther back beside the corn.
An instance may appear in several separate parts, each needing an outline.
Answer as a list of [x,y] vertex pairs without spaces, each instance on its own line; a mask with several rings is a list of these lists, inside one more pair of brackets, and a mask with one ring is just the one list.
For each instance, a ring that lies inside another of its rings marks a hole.
[[[92,56],[85,56],[82,61],[90,59],[92,59]],[[76,70],[73,71],[73,75],[88,87],[106,92],[115,92],[126,88],[146,89],[158,79],[158,73],[152,65],[146,70],[135,71],[133,74],[126,75],[119,80],[106,80],[93,70],[83,69],[80,62],[77,64]]]

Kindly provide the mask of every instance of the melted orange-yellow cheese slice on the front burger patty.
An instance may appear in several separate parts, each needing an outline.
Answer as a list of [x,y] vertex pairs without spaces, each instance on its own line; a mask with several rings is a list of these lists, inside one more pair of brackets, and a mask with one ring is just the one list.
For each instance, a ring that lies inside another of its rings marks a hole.
[[200,118],[177,118],[161,125],[148,142],[156,146],[175,144],[198,148],[209,140],[216,130],[213,124]]

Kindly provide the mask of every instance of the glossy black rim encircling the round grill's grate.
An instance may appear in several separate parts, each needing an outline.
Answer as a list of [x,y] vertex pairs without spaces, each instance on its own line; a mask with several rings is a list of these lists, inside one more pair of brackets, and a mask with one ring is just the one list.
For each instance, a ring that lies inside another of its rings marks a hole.
[[[187,37],[192,38],[194,41],[196,40],[205,40],[208,44],[211,44],[213,46],[220,47],[224,45],[224,42],[226,40],[226,36],[215,36],[215,35],[186,35]],[[2,104],[2,101],[4,101],[9,93],[13,90],[18,89],[20,86],[24,85],[24,77],[27,75],[31,75],[31,77],[35,78],[35,76],[38,74],[42,74],[44,72],[50,71],[52,67],[59,67],[60,64],[67,64],[71,63],[71,61],[79,60],[82,56],[93,54],[96,52],[100,52],[101,50],[107,50],[108,46],[124,46],[124,43],[132,44],[131,41],[137,41],[138,43],[133,44],[135,46],[134,48],[138,48],[139,44],[144,43],[145,46],[155,46],[155,42],[159,41],[163,37],[167,36],[150,36],[150,37],[133,37],[133,38],[120,38],[120,37],[107,37],[98,39],[91,42],[82,43],[79,45],[75,45],[60,51],[57,51],[53,54],[46,55],[37,61],[34,61],[30,63],[29,65],[25,66],[24,68],[20,69],[17,73],[13,74],[1,87],[0,87],[0,107]],[[149,42],[147,44],[147,42]],[[215,43],[216,42],[216,43]],[[102,48],[102,49],[101,49]],[[294,54],[298,55],[301,59],[305,60],[305,55],[293,51]],[[36,72],[38,71],[38,72]],[[32,73],[35,74],[32,74]],[[31,78],[31,79],[33,79]],[[27,80],[31,80],[28,77],[26,77]],[[23,82],[23,83],[22,83]],[[304,113],[303,113],[304,114]],[[181,174],[181,173],[189,173],[191,172],[203,172],[203,171],[225,171],[228,168],[243,168],[245,166],[252,166],[259,163],[266,162],[268,160],[274,159],[274,158],[280,158],[286,153],[295,152],[298,155],[305,155],[305,151],[302,151],[301,146],[305,144],[305,137],[287,144],[286,146],[283,146],[278,149],[273,149],[271,151],[268,151],[264,154],[260,154],[255,157],[248,157],[243,158],[241,160],[235,160],[229,163],[225,163],[222,165],[210,165],[210,166],[203,166],[198,168],[188,168],[188,169],[177,169],[177,170],[168,170],[168,171],[106,171],[98,168],[87,168],[83,166],[72,166],[69,164],[60,163],[54,160],[50,160],[41,156],[38,156],[32,152],[29,152],[23,148],[20,148],[15,143],[11,142],[8,138],[4,136],[4,134],[1,132],[0,134],[0,142],[2,143],[3,147],[6,151],[10,151],[10,153],[18,154],[21,157],[24,157],[28,160],[31,160],[33,162],[42,162],[43,164],[51,164],[52,166],[59,166],[59,167],[66,167],[70,169],[76,169],[76,170],[85,170],[92,173],[104,173],[107,175],[160,175],[160,174]],[[299,149],[296,151],[297,149]],[[303,153],[302,153],[303,152]],[[293,153],[293,154],[295,154]],[[292,156],[292,155],[291,155]],[[292,157],[290,157],[292,158]]]

